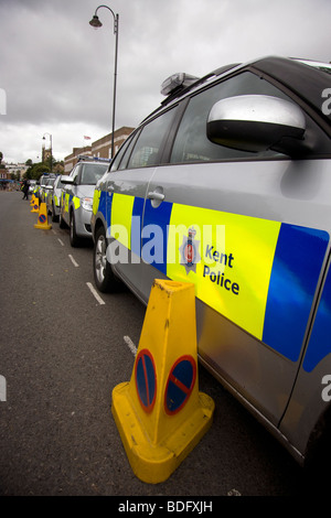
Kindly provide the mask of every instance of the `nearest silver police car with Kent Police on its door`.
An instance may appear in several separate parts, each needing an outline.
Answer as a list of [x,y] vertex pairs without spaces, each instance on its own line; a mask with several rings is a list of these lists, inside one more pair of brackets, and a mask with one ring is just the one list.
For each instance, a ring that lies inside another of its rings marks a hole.
[[331,65],[162,91],[95,190],[95,283],[147,303],[156,278],[193,282],[200,360],[303,464],[331,422]]

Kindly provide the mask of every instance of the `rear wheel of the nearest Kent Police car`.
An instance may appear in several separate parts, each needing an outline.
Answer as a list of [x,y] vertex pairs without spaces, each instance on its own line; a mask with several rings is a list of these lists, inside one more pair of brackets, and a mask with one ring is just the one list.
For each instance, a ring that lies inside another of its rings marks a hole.
[[104,227],[96,233],[93,255],[94,280],[97,289],[103,292],[115,292],[120,281],[114,276],[111,266],[107,260],[107,239]]

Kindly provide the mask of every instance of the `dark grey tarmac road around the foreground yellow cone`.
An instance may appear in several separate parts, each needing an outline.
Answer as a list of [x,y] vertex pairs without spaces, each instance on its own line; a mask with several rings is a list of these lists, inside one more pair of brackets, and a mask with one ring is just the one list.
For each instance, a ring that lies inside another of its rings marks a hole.
[[[214,422],[171,477],[132,473],[110,412],[111,390],[130,379],[145,306],[124,291],[90,292],[92,246],[68,231],[34,228],[21,193],[0,192],[0,495],[307,496],[317,483],[212,376],[200,390]],[[72,257],[70,257],[72,256]]]

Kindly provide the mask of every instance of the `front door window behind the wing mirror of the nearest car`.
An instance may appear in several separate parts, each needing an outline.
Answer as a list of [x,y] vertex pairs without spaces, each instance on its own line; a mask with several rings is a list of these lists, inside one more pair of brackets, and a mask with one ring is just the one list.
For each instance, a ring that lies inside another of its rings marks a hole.
[[256,154],[249,151],[228,149],[213,143],[207,139],[207,117],[215,102],[226,97],[258,94],[291,100],[274,85],[250,72],[244,72],[193,96],[182,118],[172,148],[170,162],[209,162],[226,159],[245,159],[257,155],[281,157],[280,153],[270,150]]

